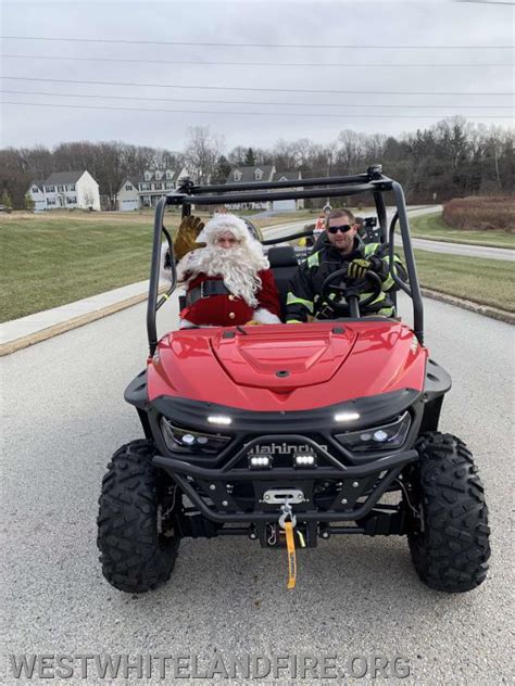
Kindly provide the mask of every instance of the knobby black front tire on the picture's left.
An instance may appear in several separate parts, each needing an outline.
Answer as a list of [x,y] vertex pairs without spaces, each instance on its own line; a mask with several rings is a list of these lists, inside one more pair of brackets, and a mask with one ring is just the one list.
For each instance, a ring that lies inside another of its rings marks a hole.
[[[152,466],[154,454],[150,441],[122,446],[102,481],[97,538],[102,573],[126,593],[164,584],[177,557],[179,537],[169,519],[163,520],[165,491]],[[168,512],[174,503],[175,497]]]

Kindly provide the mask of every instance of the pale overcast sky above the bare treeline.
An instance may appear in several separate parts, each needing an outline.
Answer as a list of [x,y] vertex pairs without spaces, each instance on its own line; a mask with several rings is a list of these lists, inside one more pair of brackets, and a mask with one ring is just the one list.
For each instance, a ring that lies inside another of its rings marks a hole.
[[454,114],[513,123],[512,0],[16,0],[1,7],[2,147],[122,140],[181,150],[188,127],[206,125],[230,150],[266,148],[280,138],[326,143],[346,128],[398,135]]

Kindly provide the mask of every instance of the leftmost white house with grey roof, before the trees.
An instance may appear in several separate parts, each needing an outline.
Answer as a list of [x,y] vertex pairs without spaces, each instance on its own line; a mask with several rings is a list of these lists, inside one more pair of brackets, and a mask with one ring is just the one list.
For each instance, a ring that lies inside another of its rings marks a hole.
[[99,185],[86,169],[79,172],[55,172],[43,181],[33,181],[28,193],[34,208],[100,209]]

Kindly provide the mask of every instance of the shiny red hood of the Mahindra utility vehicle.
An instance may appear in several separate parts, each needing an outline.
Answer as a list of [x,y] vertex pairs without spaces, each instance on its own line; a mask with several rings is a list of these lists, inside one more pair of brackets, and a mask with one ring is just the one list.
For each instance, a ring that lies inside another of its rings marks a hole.
[[[149,361],[149,399],[181,396],[252,410],[299,410],[411,388],[426,348],[395,321],[185,329]],[[234,334],[234,335],[231,335]]]

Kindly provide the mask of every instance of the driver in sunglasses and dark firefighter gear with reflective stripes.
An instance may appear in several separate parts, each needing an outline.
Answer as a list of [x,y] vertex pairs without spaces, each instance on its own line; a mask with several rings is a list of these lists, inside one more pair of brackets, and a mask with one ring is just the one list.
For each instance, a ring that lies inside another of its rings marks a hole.
[[[362,314],[395,316],[392,300],[388,293],[398,290],[388,269],[388,245],[368,243],[365,245],[357,236],[354,216],[347,209],[334,209],[328,219],[325,241],[321,249],[313,253],[300,266],[290,282],[287,296],[287,323],[307,321],[309,317],[331,319],[338,317],[330,303],[323,303],[322,287],[327,277],[339,269],[347,268],[350,285],[365,278],[368,270],[375,271],[382,281],[380,294],[369,303]],[[401,261],[395,255],[394,269],[397,276],[406,279]],[[366,281],[360,300],[370,295]]]

